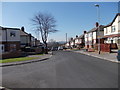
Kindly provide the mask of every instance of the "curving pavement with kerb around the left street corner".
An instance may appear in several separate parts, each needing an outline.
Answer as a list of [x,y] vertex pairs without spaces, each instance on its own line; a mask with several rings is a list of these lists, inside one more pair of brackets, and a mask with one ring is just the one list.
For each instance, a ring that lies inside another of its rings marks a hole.
[[51,56],[52,56],[52,52],[49,52],[49,54],[43,54],[43,55],[29,55],[27,57],[38,57],[38,59],[18,61],[18,62],[10,62],[10,63],[0,63],[0,67],[14,66],[14,65],[21,65],[21,64],[43,61],[43,60],[49,59]]

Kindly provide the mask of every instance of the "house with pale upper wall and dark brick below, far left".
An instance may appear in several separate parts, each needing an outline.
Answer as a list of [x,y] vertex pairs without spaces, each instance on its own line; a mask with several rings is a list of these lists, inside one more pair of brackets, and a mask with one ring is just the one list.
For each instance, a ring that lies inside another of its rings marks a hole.
[[1,27],[0,38],[0,55],[2,58],[20,55],[20,29]]

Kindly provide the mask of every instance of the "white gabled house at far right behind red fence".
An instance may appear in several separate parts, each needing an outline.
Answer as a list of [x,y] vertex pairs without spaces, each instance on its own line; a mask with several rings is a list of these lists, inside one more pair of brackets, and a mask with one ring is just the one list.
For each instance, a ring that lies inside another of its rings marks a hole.
[[116,14],[113,21],[104,27],[104,43],[113,44],[115,49],[120,46],[120,13]]

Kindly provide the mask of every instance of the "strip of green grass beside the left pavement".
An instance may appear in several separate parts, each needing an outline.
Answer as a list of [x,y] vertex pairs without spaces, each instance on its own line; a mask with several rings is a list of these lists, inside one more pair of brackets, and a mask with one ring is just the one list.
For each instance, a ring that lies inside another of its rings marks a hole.
[[38,59],[38,57],[19,57],[19,58],[3,59],[3,60],[0,60],[0,63],[26,61],[26,60],[33,60],[33,59]]

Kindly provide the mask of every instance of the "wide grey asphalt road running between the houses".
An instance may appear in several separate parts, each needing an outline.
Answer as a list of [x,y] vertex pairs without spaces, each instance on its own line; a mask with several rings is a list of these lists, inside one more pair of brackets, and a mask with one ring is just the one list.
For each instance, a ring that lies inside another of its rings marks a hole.
[[69,51],[2,69],[7,88],[117,88],[118,64]]

